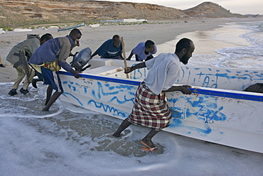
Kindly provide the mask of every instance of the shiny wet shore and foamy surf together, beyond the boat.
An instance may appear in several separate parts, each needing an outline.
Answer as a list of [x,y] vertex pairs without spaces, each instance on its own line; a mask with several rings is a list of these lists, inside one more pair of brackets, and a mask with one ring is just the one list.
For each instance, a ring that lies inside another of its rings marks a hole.
[[[205,23],[204,23],[205,25]],[[263,67],[263,21],[228,23],[211,31],[194,31],[157,45],[159,53],[171,53],[181,38],[195,44],[189,65],[205,67]]]

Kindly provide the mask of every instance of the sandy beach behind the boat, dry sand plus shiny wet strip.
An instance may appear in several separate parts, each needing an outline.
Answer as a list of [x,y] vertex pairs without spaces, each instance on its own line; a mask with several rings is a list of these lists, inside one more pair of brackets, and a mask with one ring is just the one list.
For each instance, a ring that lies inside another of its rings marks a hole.
[[[233,41],[225,43],[220,40],[212,40],[213,35],[238,35],[247,33],[247,30],[233,28],[224,28],[227,23],[247,22],[247,21],[263,21],[262,18],[198,18],[188,19],[186,21],[155,21],[149,24],[122,25],[122,26],[100,26],[98,28],[90,28],[85,26],[82,29],[82,38],[80,39],[80,47],[73,49],[73,53],[80,51],[82,48],[90,47],[95,52],[105,40],[112,38],[118,34],[124,38],[126,55],[141,41],[153,40],[156,43],[158,52],[173,53],[176,42],[183,37],[190,38],[195,43],[195,52],[193,55],[215,55],[213,52],[219,48],[236,47],[237,43],[242,45],[250,45],[245,39],[242,41]],[[151,21],[152,22],[152,21]],[[33,33],[43,35],[51,33],[54,38],[68,35],[70,31],[57,32],[56,28],[43,30],[41,28],[33,29],[31,32],[14,32],[6,31],[0,35],[0,55],[2,62],[6,67],[0,68],[0,82],[13,82],[16,79],[16,70],[6,61],[6,55],[9,50],[26,39],[26,34]],[[98,56],[97,56],[98,57]],[[68,58],[68,62],[72,57]]]

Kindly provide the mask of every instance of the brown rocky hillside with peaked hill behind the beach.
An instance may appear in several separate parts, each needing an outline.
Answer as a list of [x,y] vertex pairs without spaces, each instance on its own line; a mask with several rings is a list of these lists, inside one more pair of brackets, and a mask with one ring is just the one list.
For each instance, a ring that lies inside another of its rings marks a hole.
[[92,0],[0,0],[0,28],[41,23],[99,21],[117,18],[147,20],[178,19],[204,16],[245,17],[230,13],[218,4],[206,2],[181,11],[155,4]]

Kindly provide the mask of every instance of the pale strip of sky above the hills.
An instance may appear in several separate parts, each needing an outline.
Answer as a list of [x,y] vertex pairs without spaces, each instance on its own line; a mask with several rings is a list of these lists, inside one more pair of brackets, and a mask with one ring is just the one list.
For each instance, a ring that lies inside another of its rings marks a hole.
[[[125,0],[107,0],[107,1],[125,1]],[[209,0],[208,0],[209,1]],[[158,4],[162,6],[173,7],[180,10],[190,9],[204,0],[128,0],[128,2]],[[263,1],[262,0],[213,0],[215,4],[230,10],[231,13],[245,14],[261,14],[263,15]]]

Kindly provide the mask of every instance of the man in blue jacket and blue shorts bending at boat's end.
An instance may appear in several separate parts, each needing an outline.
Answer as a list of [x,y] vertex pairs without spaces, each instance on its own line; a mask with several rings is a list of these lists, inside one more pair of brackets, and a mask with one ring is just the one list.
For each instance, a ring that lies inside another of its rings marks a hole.
[[[63,87],[58,75],[60,67],[67,72],[71,72],[75,78],[79,78],[79,73],[66,62],[80,40],[82,33],[77,28],[70,31],[70,35],[53,38],[43,43],[31,56],[29,63],[41,65],[41,72],[44,84],[48,84],[45,107],[42,111],[48,111],[50,106],[63,94]],[[52,94],[55,89],[54,94]],[[52,96],[51,96],[52,94]]]

